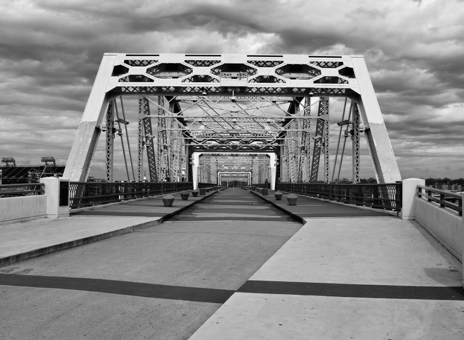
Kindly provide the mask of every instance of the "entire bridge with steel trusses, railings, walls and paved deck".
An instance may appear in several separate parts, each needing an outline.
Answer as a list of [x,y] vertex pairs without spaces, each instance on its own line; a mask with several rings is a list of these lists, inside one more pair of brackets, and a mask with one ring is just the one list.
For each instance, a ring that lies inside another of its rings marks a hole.
[[107,53],[63,176],[0,216],[10,338],[462,339],[462,194],[401,179],[362,56]]

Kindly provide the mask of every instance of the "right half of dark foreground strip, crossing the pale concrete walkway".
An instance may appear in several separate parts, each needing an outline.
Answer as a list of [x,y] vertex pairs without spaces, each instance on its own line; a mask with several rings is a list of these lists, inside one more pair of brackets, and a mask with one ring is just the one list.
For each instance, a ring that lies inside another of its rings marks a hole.
[[240,293],[362,297],[371,299],[460,300],[462,287],[387,286],[374,284],[247,281]]

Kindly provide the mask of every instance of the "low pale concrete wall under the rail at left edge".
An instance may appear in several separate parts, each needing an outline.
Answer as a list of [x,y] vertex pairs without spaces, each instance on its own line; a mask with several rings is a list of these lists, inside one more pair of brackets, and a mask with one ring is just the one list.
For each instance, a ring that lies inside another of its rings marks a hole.
[[21,220],[45,218],[47,214],[47,196],[19,196],[0,199],[0,225]]

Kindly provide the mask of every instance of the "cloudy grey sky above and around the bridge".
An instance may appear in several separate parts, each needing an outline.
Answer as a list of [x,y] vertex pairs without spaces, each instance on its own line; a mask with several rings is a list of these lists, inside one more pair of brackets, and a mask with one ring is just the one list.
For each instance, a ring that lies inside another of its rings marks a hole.
[[[0,156],[19,164],[66,162],[104,52],[362,54],[402,177],[464,177],[463,0],[0,0],[0,10]],[[94,160],[90,174],[102,169]]]

